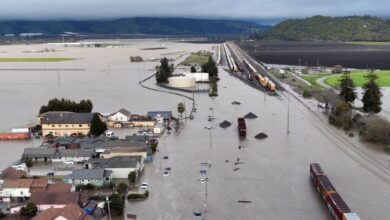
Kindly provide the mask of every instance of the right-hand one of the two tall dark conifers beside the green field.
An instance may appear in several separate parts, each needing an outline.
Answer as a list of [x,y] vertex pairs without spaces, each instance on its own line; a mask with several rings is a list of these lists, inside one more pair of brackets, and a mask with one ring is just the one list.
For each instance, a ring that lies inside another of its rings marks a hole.
[[376,83],[378,76],[370,72],[366,76],[367,83],[363,86],[363,111],[368,113],[379,113],[382,110],[382,92]]

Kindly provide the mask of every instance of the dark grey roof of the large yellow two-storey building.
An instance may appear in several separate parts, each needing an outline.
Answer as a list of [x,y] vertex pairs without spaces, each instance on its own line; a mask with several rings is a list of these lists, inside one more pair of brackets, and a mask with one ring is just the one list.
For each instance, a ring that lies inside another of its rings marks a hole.
[[47,112],[42,124],[91,124],[93,113]]

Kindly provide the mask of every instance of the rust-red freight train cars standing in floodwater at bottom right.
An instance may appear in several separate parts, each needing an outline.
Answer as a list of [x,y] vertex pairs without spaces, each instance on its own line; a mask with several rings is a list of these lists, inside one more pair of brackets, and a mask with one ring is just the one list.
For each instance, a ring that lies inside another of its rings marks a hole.
[[310,177],[322,199],[325,201],[330,213],[336,220],[360,220],[359,216],[352,212],[332,185],[320,164],[310,164]]

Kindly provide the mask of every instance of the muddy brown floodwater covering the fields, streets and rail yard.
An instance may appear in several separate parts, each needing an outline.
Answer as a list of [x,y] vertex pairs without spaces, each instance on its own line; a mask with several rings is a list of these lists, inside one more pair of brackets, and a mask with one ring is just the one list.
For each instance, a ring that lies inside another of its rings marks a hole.
[[[90,98],[94,110],[99,112],[112,112],[121,107],[136,113],[176,112],[179,102],[185,102],[190,109],[188,99],[142,89],[138,81],[153,73],[155,63],[146,63],[143,71],[143,63],[130,64],[128,57],[159,57],[161,53],[180,51],[188,54],[210,49],[211,45],[164,42],[165,50],[141,50],[161,44],[150,40],[138,41],[127,48],[62,48],[64,52],[55,54],[32,54],[83,58],[48,63],[46,68],[85,68],[86,71],[60,71],[60,80],[56,71],[1,71],[0,129],[35,120],[39,107],[54,97]],[[9,46],[1,50],[24,56],[17,53],[23,48]],[[10,54],[1,56],[11,57]],[[26,64],[0,63],[0,69],[15,66],[26,68]],[[27,66],[39,68],[42,64]],[[139,219],[195,219],[193,211],[204,210],[207,204],[206,219],[332,219],[309,177],[309,163],[319,162],[347,204],[362,219],[388,219],[390,171],[389,165],[384,165],[387,159],[375,158],[374,153],[365,154],[362,149],[367,146],[329,127],[318,116],[319,112],[310,110],[297,99],[286,94],[264,95],[222,68],[219,75],[219,96],[211,99],[207,94],[196,94],[195,119],[183,120],[179,132],[166,133],[160,138],[159,152],[154,155],[153,163],[146,166],[141,180],[149,183],[150,197],[143,202],[127,202],[125,213],[137,214]],[[155,87],[152,80],[146,85]],[[290,98],[289,105],[286,97]],[[232,105],[233,101],[241,105]],[[240,140],[237,117],[248,112],[259,117],[246,120],[247,137]],[[207,120],[209,115],[215,116],[213,122]],[[224,120],[232,122],[232,126],[220,128],[218,125]],[[268,138],[255,139],[260,132]],[[33,142],[1,142],[4,156],[0,165],[7,166],[18,159],[24,147],[32,145]],[[164,156],[169,158],[162,159]],[[242,164],[235,165],[238,158]],[[201,162],[210,162],[211,167],[201,166]],[[172,169],[169,176],[162,175],[166,167]],[[200,170],[207,170],[209,178],[207,202],[206,184],[199,182]],[[239,203],[239,200],[251,203]]]

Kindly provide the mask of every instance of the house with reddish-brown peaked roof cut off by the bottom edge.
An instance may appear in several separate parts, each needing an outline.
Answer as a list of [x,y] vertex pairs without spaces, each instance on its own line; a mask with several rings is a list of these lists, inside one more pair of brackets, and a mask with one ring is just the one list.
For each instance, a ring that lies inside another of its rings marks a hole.
[[32,220],[91,220],[80,207],[69,203],[63,208],[49,208],[39,213]]

